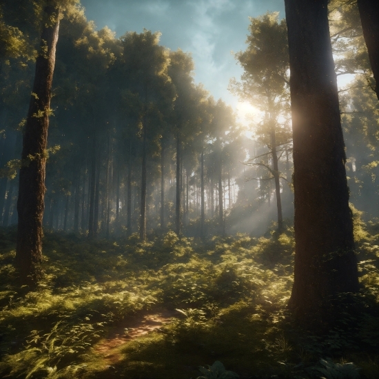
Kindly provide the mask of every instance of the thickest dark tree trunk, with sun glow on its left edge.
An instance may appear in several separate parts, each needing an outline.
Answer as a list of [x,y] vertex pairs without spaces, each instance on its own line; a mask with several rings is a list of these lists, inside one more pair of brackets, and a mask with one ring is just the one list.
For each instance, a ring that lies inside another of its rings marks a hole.
[[[358,290],[327,0],[285,0],[294,130],[295,278],[289,305],[311,322]],[[328,310],[327,310],[328,309]]]

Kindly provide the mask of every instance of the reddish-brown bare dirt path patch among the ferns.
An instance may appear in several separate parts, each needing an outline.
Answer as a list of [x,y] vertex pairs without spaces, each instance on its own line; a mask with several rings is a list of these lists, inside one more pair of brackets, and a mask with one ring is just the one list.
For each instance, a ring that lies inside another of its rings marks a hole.
[[121,360],[121,354],[116,349],[134,338],[145,336],[163,327],[178,316],[177,311],[158,311],[154,314],[130,316],[116,328],[109,331],[107,338],[101,340],[95,347],[96,354],[103,356],[112,365]]

